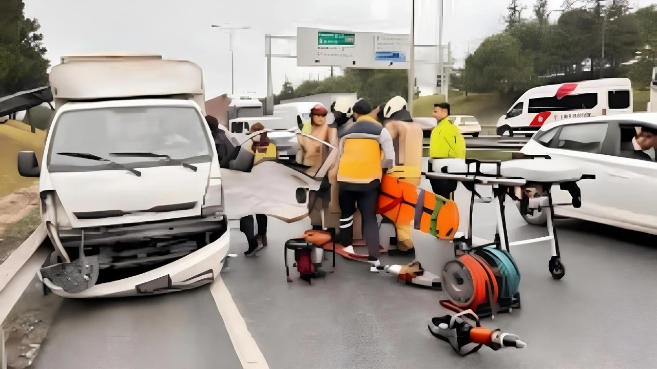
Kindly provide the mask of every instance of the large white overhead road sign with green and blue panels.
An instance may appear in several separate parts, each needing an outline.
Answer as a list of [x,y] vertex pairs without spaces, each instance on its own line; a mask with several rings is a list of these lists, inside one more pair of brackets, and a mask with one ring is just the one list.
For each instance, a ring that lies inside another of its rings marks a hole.
[[299,27],[297,66],[408,69],[409,35]]

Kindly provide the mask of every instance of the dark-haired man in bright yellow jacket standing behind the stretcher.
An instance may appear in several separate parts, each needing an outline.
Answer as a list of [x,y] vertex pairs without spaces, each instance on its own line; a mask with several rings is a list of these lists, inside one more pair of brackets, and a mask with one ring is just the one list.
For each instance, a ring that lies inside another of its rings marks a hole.
[[[429,143],[429,156],[436,158],[460,158],[465,159],[465,139],[456,127],[447,119],[449,116],[449,104],[442,102],[434,104],[434,118],[438,125],[431,131]],[[457,188],[457,181],[451,179],[430,179],[431,189],[434,194],[444,198],[453,199],[453,192]]]

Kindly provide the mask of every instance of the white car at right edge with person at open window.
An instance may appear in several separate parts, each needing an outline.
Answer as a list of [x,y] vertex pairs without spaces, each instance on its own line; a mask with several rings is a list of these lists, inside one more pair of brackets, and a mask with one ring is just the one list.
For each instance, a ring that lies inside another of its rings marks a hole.
[[[593,221],[613,227],[657,234],[657,163],[654,149],[635,151],[637,127],[657,129],[657,113],[619,114],[564,119],[546,123],[520,150],[523,154],[549,155],[568,160],[596,176],[581,181],[581,207],[555,206],[556,217]],[[555,204],[570,203],[570,194],[553,189]],[[523,215],[535,225],[546,214]]]

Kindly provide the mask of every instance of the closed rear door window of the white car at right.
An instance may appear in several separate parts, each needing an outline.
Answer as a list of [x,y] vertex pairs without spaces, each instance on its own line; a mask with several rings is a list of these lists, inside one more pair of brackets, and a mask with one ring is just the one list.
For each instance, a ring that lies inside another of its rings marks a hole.
[[607,135],[607,123],[563,125],[556,148],[600,154]]

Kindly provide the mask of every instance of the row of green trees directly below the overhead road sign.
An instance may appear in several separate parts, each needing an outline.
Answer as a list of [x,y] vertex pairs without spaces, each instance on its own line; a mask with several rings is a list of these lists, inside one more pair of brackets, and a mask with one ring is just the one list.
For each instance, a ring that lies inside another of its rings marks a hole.
[[294,89],[294,97],[318,93],[356,93],[372,106],[377,106],[397,95],[406,97],[407,76],[405,70],[347,69],[342,76],[328,77],[322,81],[303,81]]

